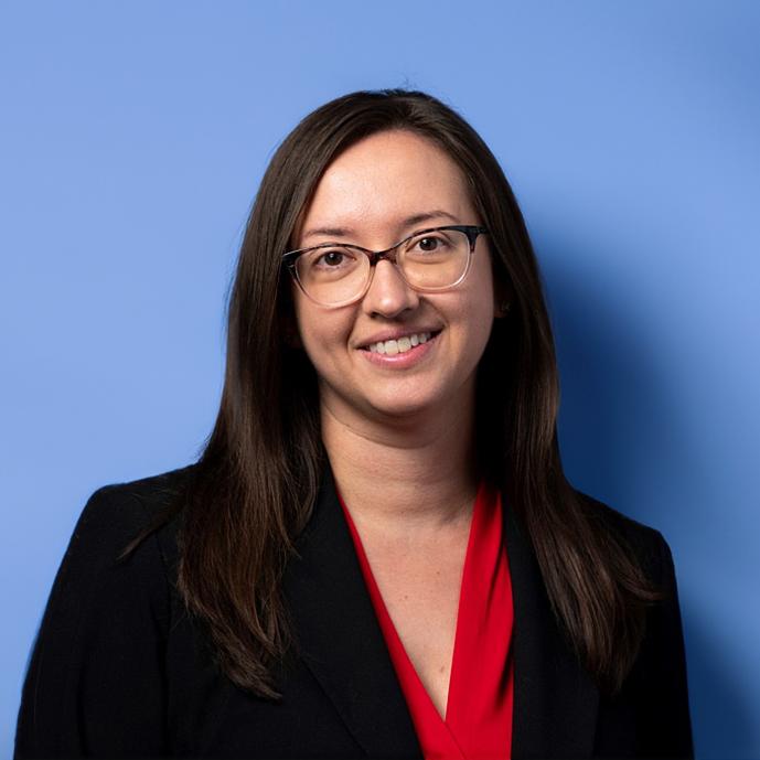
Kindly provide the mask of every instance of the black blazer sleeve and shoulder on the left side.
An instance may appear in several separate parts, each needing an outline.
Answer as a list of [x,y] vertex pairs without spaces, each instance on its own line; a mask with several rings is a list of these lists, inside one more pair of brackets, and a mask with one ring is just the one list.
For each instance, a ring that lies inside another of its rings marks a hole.
[[118,486],[87,502],[58,569],[22,692],[22,758],[160,757],[170,593],[156,536],[118,556],[147,523]]

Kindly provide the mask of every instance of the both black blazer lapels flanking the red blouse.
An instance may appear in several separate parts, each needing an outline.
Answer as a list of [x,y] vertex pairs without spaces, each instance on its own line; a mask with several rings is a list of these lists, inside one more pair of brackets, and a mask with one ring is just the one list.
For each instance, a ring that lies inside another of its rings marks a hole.
[[[598,693],[552,613],[524,527],[504,504],[515,628],[512,758],[582,758],[593,747]],[[421,757],[328,469],[285,595],[298,653],[370,757]]]

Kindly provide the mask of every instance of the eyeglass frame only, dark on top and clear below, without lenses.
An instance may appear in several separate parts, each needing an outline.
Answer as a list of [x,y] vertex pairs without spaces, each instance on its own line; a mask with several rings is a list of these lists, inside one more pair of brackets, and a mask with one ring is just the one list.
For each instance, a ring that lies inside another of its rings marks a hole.
[[[457,281],[452,282],[451,285],[446,285],[440,288],[420,288],[415,285],[411,285],[411,282],[409,282],[404,276],[404,270],[398,266],[398,248],[400,248],[405,243],[408,243],[413,237],[418,237],[419,235],[425,235],[427,233],[445,232],[447,229],[456,229],[457,232],[464,233],[470,244],[467,266],[464,267],[464,271],[462,272],[461,277],[459,277],[459,279],[457,279]],[[282,266],[287,267],[290,270],[290,276],[296,281],[296,285],[298,285],[298,287],[301,289],[301,292],[303,292],[303,295],[309,300],[325,309],[336,309],[339,307],[349,306],[364,298],[364,296],[366,296],[367,293],[367,290],[370,290],[370,286],[372,285],[372,279],[374,277],[374,268],[377,265],[377,263],[382,260],[390,261],[390,264],[393,264],[396,267],[396,270],[398,271],[404,282],[407,285],[407,287],[411,288],[416,292],[438,293],[443,292],[446,290],[450,290],[451,288],[456,288],[460,282],[462,282],[462,280],[470,272],[470,266],[472,264],[472,256],[475,253],[475,244],[478,242],[478,236],[488,234],[489,231],[485,227],[477,224],[448,224],[442,227],[428,227],[426,229],[417,229],[416,232],[405,237],[403,240],[396,243],[396,245],[392,245],[389,248],[385,248],[384,250],[370,250],[368,248],[363,248],[362,246],[355,245],[353,243],[319,243],[318,245],[308,246],[307,248],[298,248],[296,250],[288,250],[287,253],[282,254]],[[362,251],[370,259],[370,277],[367,278],[364,289],[361,290],[357,296],[354,296],[346,301],[340,301],[339,303],[322,303],[321,301],[318,301],[307,292],[306,288],[303,287],[303,283],[298,277],[298,271],[296,267],[298,264],[298,259],[303,254],[307,254],[311,250],[318,250],[319,248],[333,248],[335,246]]]

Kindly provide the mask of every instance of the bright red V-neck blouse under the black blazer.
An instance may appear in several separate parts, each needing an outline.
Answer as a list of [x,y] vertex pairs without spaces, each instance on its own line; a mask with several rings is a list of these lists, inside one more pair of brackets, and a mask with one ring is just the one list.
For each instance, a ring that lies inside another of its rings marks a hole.
[[472,514],[446,718],[419,679],[388,614],[343,500],[364,580],[426,760],[504,760],[512,747],[512,584],[497,492],[481,484]]

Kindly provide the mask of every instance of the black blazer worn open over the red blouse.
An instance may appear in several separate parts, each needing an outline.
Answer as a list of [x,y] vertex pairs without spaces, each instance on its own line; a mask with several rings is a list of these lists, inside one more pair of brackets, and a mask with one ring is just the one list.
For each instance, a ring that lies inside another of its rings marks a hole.
[[[87,503],[38,635],[15,757],[421,757],[330,473],[285,579],[299,650],[276,672],[279,703],[221,675],[173,587],[174,523],[116,561],[191,470],[106,486]],[[670,599],[650,609],[623,692],[600,697],[555,624],[534,554],[505,504],[512,757],[692,757],[670,549],[656,531],[597,509]]]

